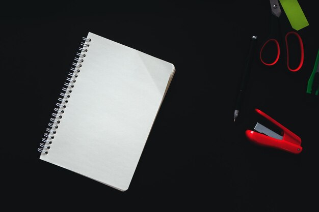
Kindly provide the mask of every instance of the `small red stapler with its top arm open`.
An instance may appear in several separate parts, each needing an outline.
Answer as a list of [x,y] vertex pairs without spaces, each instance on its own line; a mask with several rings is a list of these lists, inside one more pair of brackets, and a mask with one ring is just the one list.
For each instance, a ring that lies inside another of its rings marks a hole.
[[285,150],[293,154],[301,153],[302,147],[301,147],[300,137],[298,137],[296,134],[294,134],[293,132],[291,132],[284,126],[282,126],[275,119],[265,114],[261,110],[255,109],[255,111],[259,113],[260,115],[262,115],[263,117],[267,118],[271,123],[276,125],[278,128],[280,128],[282,130],[282,134],[279,135],[257,122],[256,126],[254,127],[254,131],[246,130],[246,137],[250,141],[258,145]]

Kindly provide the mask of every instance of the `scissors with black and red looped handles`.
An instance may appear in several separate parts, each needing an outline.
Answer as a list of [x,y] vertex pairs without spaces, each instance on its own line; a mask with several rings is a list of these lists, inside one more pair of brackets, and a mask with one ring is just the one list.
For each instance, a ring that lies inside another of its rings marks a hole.
[[[269,38],[263,43],[261,49],[260,49],[260,52],[259,52],[259,58],[260,58],[260,61],[262,64],[266,65],[266,66],[273,66],[275,65],[278,60],[279,60],[279,57],[280,57],[280,45],[279,45],[279,41],[280,40],[280,29],[281,29],[281,26],[280,25],[280,15],[281,15],[281,9],[280,9],[280,5],[278,3],[278,0],[270,0],[270,6],[271,6],[271,11],[272,11],[272,14],[271,14],[271,32],[270,32],[270,35],[269,35]],[[289,29],[290,30],[290,29]],[[299,65],[296,69],[293,69],[289,66],[289,49],[288,49],[288,41],[287,41],[287,38],[288,36],[295,36],[298,41],[299,41],[299,47],[300,47],[300,62],[299,62]],[[274,43],[276,45],[276,48],[277,48],[277,55],[276,55],[276,58],[273,62],[265,62],[265,59],[264,57],[262,57],[262,52],[264,50],[264,47],[265,46],[268,46],[270,43]],[[300,35],[297,33],[297,32],[294,32],[294,31],[290,31],[288,32],[286,35],[285,35],[285,43],[284,43],[285,47],[286,47],[286,58],[287,58],[287,68],[289,71],[291,72],[296,72],[296,71],[299,71],[300,68],[302,67],[303,63],[304,63],[304,45],[303,45],[303,42],[301,40],[301,37]]]

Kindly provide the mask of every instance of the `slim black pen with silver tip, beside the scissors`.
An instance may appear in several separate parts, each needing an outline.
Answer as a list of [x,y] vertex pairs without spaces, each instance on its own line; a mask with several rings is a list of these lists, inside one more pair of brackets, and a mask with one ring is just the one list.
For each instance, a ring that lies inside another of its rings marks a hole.
[[242,99],[243,99],[243,94],[244,94],[244,90],[246,88],[247,82],[248,82],[248,78],[249,78],[249,74],[250,74],[250,65],[251,65],[251,60],[252,60],[252,53],[255,47],[255,43],[257,40],[256,36],[252,36],[251,37],[251,42],[250,42],[250,47],[249,47],[249,52],[248,52],[248,56],[247,56],[247,60],[246,60],[246,64],[245,64],[245,69],[244,69],[244,73],[243,73],[243,77],[242,77],[242,82],[241,82],[241,87],[240,87],[240,91],[238,92],[238,97],[237,97],[237,102],[236,102],[236,107],[235,107],[235,112],[234,112],[234,122],[239,114],[240,111],[240,107],[242,104]]

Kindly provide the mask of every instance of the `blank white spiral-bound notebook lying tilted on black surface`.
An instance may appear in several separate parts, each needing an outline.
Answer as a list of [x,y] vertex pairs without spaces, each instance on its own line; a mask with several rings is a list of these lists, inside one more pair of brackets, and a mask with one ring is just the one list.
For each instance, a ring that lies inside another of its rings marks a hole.
[[126,191],[175,68],[93,33],[76,55],[40,159]]

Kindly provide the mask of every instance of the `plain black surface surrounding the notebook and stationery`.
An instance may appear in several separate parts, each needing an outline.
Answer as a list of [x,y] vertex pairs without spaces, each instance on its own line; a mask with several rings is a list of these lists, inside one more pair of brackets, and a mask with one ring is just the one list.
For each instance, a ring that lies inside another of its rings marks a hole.
[[[319,46],[318,22],[315,2],[299,2],[310,24],[298,31],[305,49],[302,69],[287,71],[284,57],[277,66],[263,67],[256,50],[236,123],[233,111],[250,37],[258,37],[258,47],[267,38],[269,1],[3,5],[2,202],[39,210],[315,208],[319,115],[306,86]],[[176,68],[126,192],[41,161],[37,152],[88,32]],[[254,108],[300,136],[303,152],[251,144],[245,130],[259,118]]]

